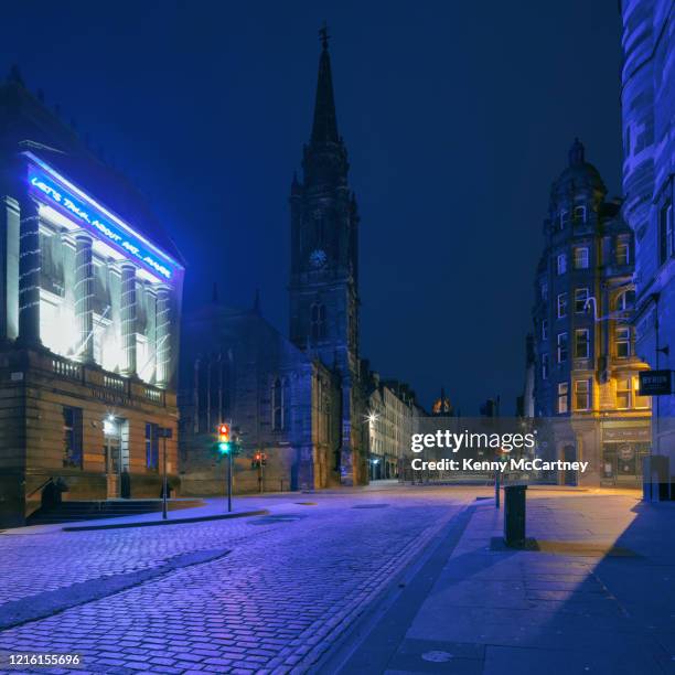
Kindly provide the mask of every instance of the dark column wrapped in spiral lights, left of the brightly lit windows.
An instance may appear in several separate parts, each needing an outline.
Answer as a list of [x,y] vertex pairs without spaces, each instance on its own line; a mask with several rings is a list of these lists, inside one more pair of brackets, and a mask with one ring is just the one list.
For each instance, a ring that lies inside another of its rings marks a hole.
[[40,344],[40,216],[30,196],[21,202],[19,229],[19,339]]

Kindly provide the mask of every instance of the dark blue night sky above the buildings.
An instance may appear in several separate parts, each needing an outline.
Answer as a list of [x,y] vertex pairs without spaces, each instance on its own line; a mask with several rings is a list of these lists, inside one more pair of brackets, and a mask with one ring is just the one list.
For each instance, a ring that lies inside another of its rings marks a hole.
[[[575,136],[620,190],[615,0],[23,2],[2,60],[149,196],[186,307],[287,332],[288,191],[325,19],[361,214],[362,353],[465,415],[519,393],[550,182]],[[114,206],[114,205],[113,205]]]

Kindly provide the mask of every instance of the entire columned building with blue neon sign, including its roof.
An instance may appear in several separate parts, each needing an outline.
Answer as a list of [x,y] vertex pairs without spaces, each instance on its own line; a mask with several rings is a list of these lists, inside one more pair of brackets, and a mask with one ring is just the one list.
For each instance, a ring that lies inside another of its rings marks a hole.
[[179,254],[17,72],[0,122],[0,518],[62,491],[158,497],[160,428],[178,473]]

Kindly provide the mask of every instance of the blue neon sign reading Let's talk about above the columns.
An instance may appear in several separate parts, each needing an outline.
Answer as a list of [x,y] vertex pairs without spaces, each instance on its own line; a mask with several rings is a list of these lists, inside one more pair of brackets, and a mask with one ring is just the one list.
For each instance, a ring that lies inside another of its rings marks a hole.
[[[41,162],[42,163],[42,162]],[[43,164],[49,169],[46,164]],[[55,175],[51,175],[53,173]],[[76,221],[84,223],[89,229],[93,229],[105,242],[120,249],[126,256],[138,260],[152,272],[171,280],[175,274],[174,265],[164,256],[160,257],[154,247],[146,243],[140,235],[135,234],[128,226],[122,226],[114,217],[107,217],[103,213],[103,208],[97,208],[86,195],[78,192],[74,186],[68,189],[65,180],[57,180],[55,172],[29,164],[29,183],[31,190],[39,193],[41,197],[46,197],[50,205],[56,206],[62,213],[65,213]]]

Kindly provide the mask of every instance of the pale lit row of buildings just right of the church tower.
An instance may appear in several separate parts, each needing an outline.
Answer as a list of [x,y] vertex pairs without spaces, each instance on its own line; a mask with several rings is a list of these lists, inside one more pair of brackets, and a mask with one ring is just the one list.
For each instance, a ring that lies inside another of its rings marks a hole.
[[417,432],[420,408],[405,384],[369,375],[368,450],[371,480],[404,479],[411,459],[410,436]]

